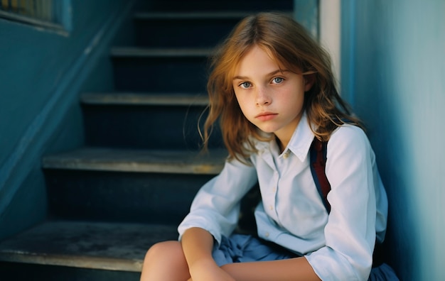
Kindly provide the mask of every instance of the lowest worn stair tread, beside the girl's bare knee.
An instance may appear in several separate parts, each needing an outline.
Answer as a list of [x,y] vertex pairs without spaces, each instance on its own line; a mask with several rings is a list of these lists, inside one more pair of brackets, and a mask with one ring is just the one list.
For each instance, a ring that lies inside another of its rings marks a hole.
[[139,272],[151,245],[177,238],[169,225],[47,221],[2,241],[0,260]]

